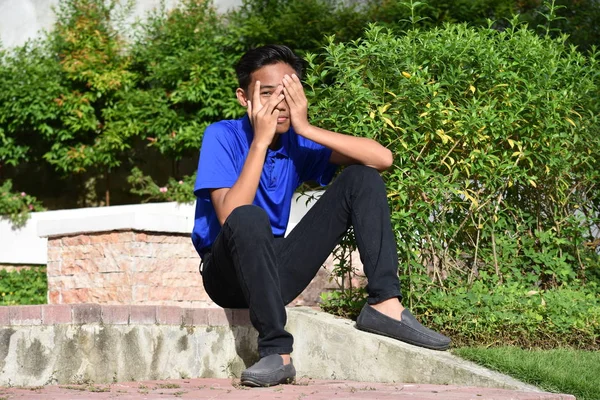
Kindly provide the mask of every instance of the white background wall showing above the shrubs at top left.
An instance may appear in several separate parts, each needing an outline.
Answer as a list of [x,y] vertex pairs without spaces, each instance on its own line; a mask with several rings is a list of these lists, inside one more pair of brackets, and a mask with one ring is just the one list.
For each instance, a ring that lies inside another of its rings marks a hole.
[[[121,0],[124,2],[125,0]],[[0,41],[2,47],[10,48],[24,44],[42,30],[50,30],[56,21],[52,10],[59,0],[0,0]],[[172,8],[178,0],[164,0],[165,6]],[[220,12],[225,12],[241,4],[241,0],[213,0]],[[161,0],[135,0],[132,20],[143,18]]]

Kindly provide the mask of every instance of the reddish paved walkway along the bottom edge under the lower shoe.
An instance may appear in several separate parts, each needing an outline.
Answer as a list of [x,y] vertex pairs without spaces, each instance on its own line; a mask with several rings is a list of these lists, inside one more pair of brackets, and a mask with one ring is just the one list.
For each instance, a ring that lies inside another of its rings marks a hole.
[[399,399],[399,400],[575,400],[570,395],[519,392],[503,389],[385,384],[300,379],[294,385],[246,388],[239,380],[182,379],[113,383],[110,385],[58,385],[37,388],[2,388],[0,400],[11,399]]

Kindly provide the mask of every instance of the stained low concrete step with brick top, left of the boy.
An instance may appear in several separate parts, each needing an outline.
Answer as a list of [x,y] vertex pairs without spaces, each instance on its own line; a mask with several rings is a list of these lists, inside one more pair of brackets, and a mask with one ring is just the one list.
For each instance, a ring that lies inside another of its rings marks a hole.
[[0,307],[0,386],[239,375],[256,361],[248,310]]

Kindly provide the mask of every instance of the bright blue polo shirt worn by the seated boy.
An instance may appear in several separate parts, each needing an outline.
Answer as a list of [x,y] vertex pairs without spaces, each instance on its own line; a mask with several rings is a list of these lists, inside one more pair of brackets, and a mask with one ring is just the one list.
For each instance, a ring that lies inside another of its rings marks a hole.
[[[196,215],[192,242],[203,256],[221,230],[210,200],[210,189],[230,188],[237,181],[252,143],[248,116],[219,121],[204,132],[198,175],[194,186]],[[327,185],[337,166],[329,162],[331,150],[297,135],[293,128],[281,135],[281,147],[267,151],[253,204],[263,208],[273,235],[284,235],[290,217],[292,196],[305,181]]]

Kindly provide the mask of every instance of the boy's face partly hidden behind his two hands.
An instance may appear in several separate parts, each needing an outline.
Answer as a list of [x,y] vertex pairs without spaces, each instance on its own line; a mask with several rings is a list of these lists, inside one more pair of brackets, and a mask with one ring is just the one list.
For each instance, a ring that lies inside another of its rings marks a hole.
[[[265,104],[271,94],[275,91],[278,85],[283,85],[283,77],[285,75],[292,76],[296,71],[289,64],[280,62],[277,64],[265,65],[264,67],[254,71],[250,77],[250,86],[247,90],[238,89],[238,100],[246,107],[248,100],[253,99],[256,81],[260,81],[260,102]],[[242,95],[242,98],[240,98]],[[284,99],[276,107],[279,110],[279,118],[277,118],[276,133],[286,133],[290,129],[290,114],[287,101]]]

